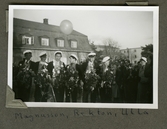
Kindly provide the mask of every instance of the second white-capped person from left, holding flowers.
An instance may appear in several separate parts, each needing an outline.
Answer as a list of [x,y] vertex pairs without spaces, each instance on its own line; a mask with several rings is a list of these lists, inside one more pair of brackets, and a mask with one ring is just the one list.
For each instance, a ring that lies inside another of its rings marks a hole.
[[55,102],[55,93],[47,70],[46,52],[41,52],[39,57],[41,60],[36,62],[35,69],[35,102]]

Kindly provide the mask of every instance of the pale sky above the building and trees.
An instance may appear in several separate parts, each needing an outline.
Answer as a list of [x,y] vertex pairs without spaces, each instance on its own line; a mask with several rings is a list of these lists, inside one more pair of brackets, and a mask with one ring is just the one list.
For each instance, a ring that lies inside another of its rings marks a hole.
[[103,45],[108,38],[118,42],[120,49],[153,43],[153,13],[149,11],[15,9],[14,17],[40,23],[47,18],[57,26],[69,20],[74,30],[87,35],[95,45]]

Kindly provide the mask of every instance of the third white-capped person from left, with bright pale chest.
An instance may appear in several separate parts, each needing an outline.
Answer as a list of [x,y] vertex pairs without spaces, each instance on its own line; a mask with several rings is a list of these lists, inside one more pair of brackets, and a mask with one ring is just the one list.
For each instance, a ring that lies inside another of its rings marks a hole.
[[61,51],[56,51],[54,55],[55,59],[48,63],[47,69],[52,78],[52,85],[56,96],[56,101],[64,102],[65,64],[61,61]]

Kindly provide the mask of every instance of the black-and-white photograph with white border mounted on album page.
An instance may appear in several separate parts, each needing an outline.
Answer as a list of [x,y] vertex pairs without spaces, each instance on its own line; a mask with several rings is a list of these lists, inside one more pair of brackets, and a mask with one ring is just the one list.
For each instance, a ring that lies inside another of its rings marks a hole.
[[10,5],[15,99],[29,107],[157,109],[158,9]]

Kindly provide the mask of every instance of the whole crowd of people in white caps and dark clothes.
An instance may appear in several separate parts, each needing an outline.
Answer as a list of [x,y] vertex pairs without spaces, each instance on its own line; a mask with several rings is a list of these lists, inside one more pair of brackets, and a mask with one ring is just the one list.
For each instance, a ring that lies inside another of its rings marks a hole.
[[25,102],[91,102],[91,103],[152,103],[152,55],[142,57],[132,65],[127,59],[109,56],[96,58],[88,54],[78,63],[75,54],[69,64],[61,61],[62,52],[46,62],[47,53],[41,52],[40,61],[33,62],[32,51],[23,52],[24,59],[13,66],[15,98]]

